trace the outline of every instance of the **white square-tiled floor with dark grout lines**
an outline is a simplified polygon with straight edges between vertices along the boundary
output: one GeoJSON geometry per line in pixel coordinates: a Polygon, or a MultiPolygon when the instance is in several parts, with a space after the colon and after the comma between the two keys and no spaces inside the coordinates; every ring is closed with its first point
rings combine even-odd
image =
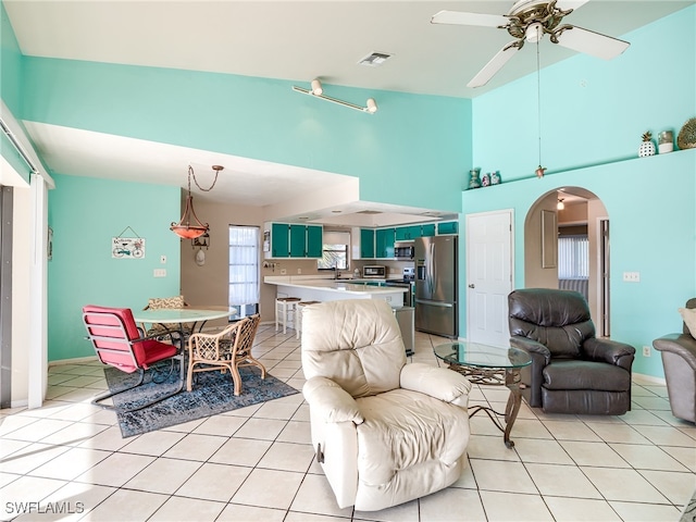
{"type": "MultiPolygon", "coordinates": [[[[412,359],[436,364],[432,347],[443,340],[418,333],[412,359]]],[[[301,389],[294,331],[262,325],[256,350],[301,389]]],[[[622,417],[547,415],[523,403],[513,449],[474,417],[461,478],[380,512],[336,506],[301,394],[122,438],[115,414],[89,402],[104,389],[97,362],[55,365],[42,408],[0,410],[1,520],[676,521],[696,488],[696,426],[671,415],[663,386],[638,376],[622,417]]],[[[475,386],[470,403],[502,411],[507,394],[475,386]]]]}

